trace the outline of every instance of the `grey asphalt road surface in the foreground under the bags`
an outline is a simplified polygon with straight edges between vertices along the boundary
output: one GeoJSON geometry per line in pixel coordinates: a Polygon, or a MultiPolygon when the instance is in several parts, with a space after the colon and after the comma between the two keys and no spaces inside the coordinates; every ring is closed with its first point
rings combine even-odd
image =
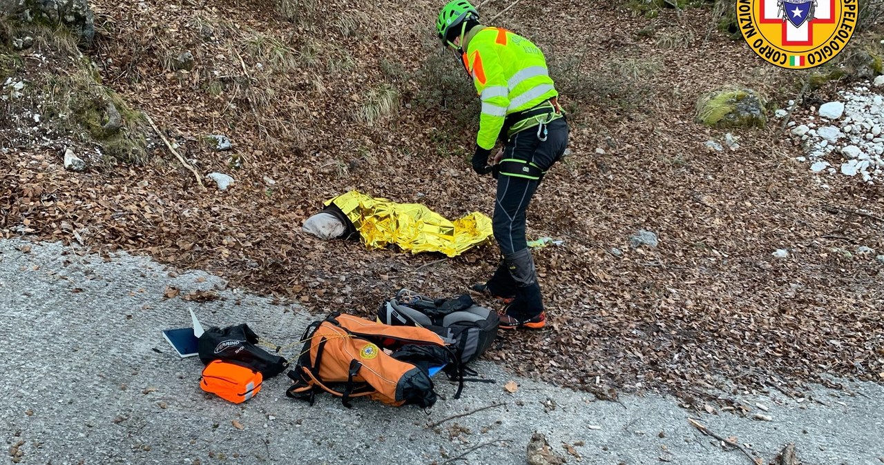
{"type": "Polygon", "coordinates": [[[285,375],[234,405],[203,393],[199,359],[174,355],[161,336],[163,329],[189,326],[188,309],[206,326],[248,323],[280,344],[296,341],[322,318],[145,257],[103,258],[60,244],[0,240],[4,460],[511,465],[526,462],[525,447],[537,431],[568,463],[750,463],[697,431],[692,417],[723,438],[735,437],[762,463],[791,442],[805,464],[884,464],[884,387],[873,383],[842,381],[848,390],[820,387],[806,400],[743,393],[752,410],[738,416],[682,409],[659,394],[598,401],[479,362],[476,371],[496,383],[470,383],[454,400],[455,386],[437,378],[446,399],[427,412],[366,400],[346,409],[327,395],[311,407],[286,398],[285,375]],[[179,295],[166,298],[167,286],[179,295]],[[221,298],[181,298],[195,290],[221,298]],[[511,380],[514,393],[504,388],[511,380]],[[494,403],[501,405],[428,427],[494,403]],[[770,420],[753,419],[756,413],[770,420]],[[566,444],[580,457],[568,454],[566,444]]]}

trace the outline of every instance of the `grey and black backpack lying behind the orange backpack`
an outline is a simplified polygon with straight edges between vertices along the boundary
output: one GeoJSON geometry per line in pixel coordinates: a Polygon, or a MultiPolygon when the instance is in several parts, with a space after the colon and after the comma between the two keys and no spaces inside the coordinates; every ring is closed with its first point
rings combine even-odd
{"type": "Polygon", "coordinates": [[[432,299],[408,289],[381,304],[377,321],[392,326],[423,326],[453,344],[462,364],[476,360],[497,337],[498,314],[461,295],[432,299]]]}

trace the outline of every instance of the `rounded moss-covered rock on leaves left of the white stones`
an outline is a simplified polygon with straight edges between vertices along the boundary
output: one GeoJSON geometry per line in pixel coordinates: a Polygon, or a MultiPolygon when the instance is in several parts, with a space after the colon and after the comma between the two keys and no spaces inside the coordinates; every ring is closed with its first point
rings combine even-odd
{"type": "Polygon", "coordinates": [[[747,88],[705,94],[697,101],[697,122],[717,128],[762,127],[767,124],[766,100],[747,88]]]}

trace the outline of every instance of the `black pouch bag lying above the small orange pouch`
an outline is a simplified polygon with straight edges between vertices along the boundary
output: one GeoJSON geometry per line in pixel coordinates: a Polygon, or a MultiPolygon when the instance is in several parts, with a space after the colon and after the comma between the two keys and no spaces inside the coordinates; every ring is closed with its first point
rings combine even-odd
{"type": "Polygon", "coordinates": [[[286,370],[288,362],[256,346],[258,335],[246,324],[210,327],[200,336],[197,346],[202,364],[212,360],[224,360],[261,371],[264,379],[269,379],[286,370]]]}

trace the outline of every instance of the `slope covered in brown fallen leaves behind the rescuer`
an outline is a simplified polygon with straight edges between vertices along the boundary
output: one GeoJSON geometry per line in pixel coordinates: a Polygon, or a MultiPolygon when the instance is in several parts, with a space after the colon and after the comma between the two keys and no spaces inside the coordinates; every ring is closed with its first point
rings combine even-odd
{"type": "MultiPolygon", "coordinates": [[[[350,189],[449,218],[491,214],[494,195],[466,161],[478,109],[454,58],[434,48],[438,5],[309,5],[286,20],[270,3],[96,2],[103,82],[204,173],[236,183],[200,191],[163,150],[148,166],[73,176],[57,154],[24,147],[0,159],[4,235],[149,253],[317,312],[370,316],[403,287],[453,296],[484,280],[493,244],[422,267],[440,257],[301,232],[322,201],[350,189]],[[186,49],[194,70],[172,70],[186,49]],[[234,155],[202,143],[219,132],[234,155]]],[[[683,396],[788,390],[824,373],[880,379],[881,265],[855,251],[884,251],[884,224],[827,209],[880,217],[878,188],[850,178],[820,188],[778,122],[735,130],[739,149],[712,152],[705,141],[725,131],[692,121],[700,94],[744,83],[785,100],[794,75],[710,31],[708,10],[644,19],[565,2],[510,12],[499,24],[548,50],[570,92],[574,154],[545,178],[528,219],[530,238],[565,241],[535,255],[551,324],[504,334],[487,357],[562,386],[683,396]],[[659,246],[632,249],[637,229],[659,246]],[[776,249],[789,257],[774,259],[776,249]]]]}

